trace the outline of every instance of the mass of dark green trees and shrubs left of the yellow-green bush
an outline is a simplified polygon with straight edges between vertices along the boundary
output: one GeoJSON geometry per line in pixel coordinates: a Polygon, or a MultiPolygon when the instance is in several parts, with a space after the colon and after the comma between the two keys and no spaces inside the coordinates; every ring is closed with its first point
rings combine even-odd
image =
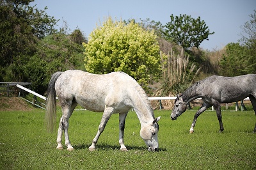
{"type": "Polygon", "coordinates": [[[45,10],[29,6],[33,0],[0,1],[0,81],[33,82],[31,89],[44,95],[51,74],[83,68],[86,42],[79,29],[57,33],[58,20],[45,10]]]}

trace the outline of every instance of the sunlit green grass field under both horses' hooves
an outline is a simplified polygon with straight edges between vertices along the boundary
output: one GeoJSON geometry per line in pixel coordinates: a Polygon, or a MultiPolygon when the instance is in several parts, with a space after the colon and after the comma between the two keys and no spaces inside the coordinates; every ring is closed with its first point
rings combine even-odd
{"type": "MultiPolygon", "coordinates": [[[[140,137],[140,121],[129,112],[125,145],[119,151],[118,114],[111,116],[99,138],[97,150],[88,147],[97,132],[102,113],[74,111],[70,141],[74,151],[56,150],[56,132],[44,128],[44,111],[0,112],[0,169],[256,169],[256,134],[253,111],[223,112],[225,132],[219,133],[216,112],[205,111],[189,128],[195,111],[176,121],[170,111],[154,111],[159,121],[159,152],[147,151],[140,137]]],[[[58,111],[58,120],[61,112],[58,111]]],[[[57,120],[57,121],[58,121],[57,120]]],[[[64,141],[63,141],[64,144],[64,141]]]]}

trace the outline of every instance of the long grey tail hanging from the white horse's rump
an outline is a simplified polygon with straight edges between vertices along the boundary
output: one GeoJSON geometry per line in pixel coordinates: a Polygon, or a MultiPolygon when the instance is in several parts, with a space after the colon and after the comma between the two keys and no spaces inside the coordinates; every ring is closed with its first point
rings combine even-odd
{"type": "Polygon", "coordinates": [[[48,132],[53,132],[56,124],[56,91],[55,82],[60,77],[62,72],[52,74],[51,80],[47,89],[46,111],[45,111],[45,127],[48,132]]]}

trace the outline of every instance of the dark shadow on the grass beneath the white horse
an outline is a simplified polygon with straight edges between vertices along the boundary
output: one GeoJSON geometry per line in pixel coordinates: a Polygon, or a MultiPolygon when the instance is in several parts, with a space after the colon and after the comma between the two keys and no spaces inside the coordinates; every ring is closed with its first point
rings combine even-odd
{"type": "MultiPolygon", "coordinates": [[[[88,150],[90,144],[77,144],[73,146],[75,150],[88,150]]],[[[127,150],[147,150],[147,147],[141,146],[126,146],[127,150]]],[[[119,150],[119,145],[97,144],[96,150],[119,150]]],[[[159,148],[159,151],[167,151],[166,148],[159,148]]]]}

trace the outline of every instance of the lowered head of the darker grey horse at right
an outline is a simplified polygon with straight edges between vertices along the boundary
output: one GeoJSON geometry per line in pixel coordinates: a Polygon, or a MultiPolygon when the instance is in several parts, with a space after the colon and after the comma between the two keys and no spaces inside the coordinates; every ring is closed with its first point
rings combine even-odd
{"type": "Polygon", "coordinates": [[[174,102],[174,107],[172,110],[171,118],[172,120],[176,120],[183,112],[187,109],[187,104],[183,101],[182,96],[177,95],[177,98],[174,102]]]}

